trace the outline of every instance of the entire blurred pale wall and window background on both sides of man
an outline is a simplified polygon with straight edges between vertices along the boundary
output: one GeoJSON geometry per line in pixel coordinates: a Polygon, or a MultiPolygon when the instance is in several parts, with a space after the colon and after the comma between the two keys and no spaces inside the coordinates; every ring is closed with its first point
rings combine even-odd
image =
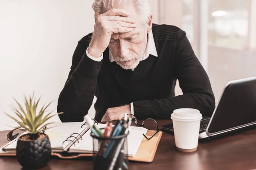
{"type": "MultiPolygon", "coordinates": [[[[13,114],[13,98],[22,102],[23,94],[35,91],[37,98],[42,96],[42,105],[54,100],[50,108],[56,110],[77,42],[93,31],[92,3],[0,0],[0,130],[17,126],[4,113],[13,114]]],[[[256,76],[256,0],[149,3],[154,23],[186,31],[209,75],[217,103],[228,81],[256,76]]],[[[89,115],[94,114],[92,106],[89,115]]],[[[54,119],[59,122],[58,116],[54,119]]]]}

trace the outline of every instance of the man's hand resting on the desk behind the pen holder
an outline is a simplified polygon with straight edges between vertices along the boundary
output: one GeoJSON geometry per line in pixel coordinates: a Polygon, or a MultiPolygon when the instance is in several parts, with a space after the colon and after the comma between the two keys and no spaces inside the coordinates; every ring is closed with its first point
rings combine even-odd
{"type": "Polygon", "coordinates": [[[123,118],[125,113],[131,114],[131,105],[120,106],[116,108],[108,108],[107,112],[102,118],[102,122],[118,120],[123,118]]]}

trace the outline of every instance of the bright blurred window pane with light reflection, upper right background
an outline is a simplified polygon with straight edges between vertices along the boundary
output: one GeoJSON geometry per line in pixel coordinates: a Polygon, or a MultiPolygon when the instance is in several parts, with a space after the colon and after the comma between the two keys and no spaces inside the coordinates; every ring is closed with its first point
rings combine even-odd
{"type": "Polygon", "coordinates": [[[226,48],[247,47],[248,0],[208,0],[208,42],[226,48]]]}

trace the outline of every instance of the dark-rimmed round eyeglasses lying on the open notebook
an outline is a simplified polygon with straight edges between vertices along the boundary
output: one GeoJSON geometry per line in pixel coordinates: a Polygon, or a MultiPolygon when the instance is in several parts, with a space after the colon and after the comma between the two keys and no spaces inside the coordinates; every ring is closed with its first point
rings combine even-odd
{"type": "Polygon", "coordinates": [[[148,118],[148,119],[145,119],[143,120],[142,122],[142,125],[140,125],[138,123],[138,120],[137,120],[137,117],[134,116],[133,114],[127,114],[127,115],[131,115],[131,118],[134,119],[134,123],[135,125],[134,126],[141,126],[141,127],[144,127],[148,130],[156,130],[156,132],[154,133],[153,136],[151,136],[150,138],[148,138],[144,133],[143,133],[143,136],[150,140],[152,139],[160,130],[158,129],[158,125],[157,125],[157,121],[155,119],[151,119],[151,118],[148,118]]]}

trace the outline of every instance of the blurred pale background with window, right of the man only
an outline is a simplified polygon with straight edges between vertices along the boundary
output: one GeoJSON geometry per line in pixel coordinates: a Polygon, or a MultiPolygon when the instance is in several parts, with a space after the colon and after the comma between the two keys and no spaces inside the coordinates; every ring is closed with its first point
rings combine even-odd
{"type": "Polygon", "coordinates": [[[186,31],[216,102],[228,81],[256,76],[256,0],[160,0],[158,5],[163,11],[157,22],[186,31]]]}

